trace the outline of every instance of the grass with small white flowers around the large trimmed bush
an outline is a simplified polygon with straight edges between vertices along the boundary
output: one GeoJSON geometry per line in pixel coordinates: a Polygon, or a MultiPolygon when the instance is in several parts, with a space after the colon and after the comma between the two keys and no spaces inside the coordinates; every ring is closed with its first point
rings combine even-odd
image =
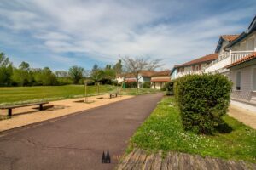
{"type": "Polygon", "coordinates": [[[232,127],[230,133],[212,136],[196,135],[183,131],[179,111],[174,99],[164,98],[131,138],[127,151],[134,148],[155,152],[169,150],[201,156],[256,162],[256,130],[230,116],[224,122],[232,127]]]}

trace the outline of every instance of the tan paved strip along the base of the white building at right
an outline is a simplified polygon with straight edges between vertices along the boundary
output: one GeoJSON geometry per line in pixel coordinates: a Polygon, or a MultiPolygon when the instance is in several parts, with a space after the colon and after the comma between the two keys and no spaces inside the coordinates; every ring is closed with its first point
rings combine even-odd
{"type": "Polygon", "coordinates": [[[253,111],[245,110],[236,105],[230,105],[228,114],[239,122],[243,122],[247,126],[256,129],[256,114],[253,111]]]}

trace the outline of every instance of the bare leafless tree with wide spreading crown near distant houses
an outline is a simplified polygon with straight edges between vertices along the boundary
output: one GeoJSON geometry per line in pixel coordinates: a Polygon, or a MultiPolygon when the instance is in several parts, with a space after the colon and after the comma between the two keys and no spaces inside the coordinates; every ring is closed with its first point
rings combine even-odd
{"type": "Polygon", "coordinates": [[[137,80],[137,92],[139,88],[139,80],[142,78],[140,77],[139,73],[141,71],[154,71],[154,69],[161,66],[161,59],[148,60],[144,58],[132,59],[131,57],[125,57],[122,58],[122,60],[125,63],[125,69],[133,74],[137,80]]]}

